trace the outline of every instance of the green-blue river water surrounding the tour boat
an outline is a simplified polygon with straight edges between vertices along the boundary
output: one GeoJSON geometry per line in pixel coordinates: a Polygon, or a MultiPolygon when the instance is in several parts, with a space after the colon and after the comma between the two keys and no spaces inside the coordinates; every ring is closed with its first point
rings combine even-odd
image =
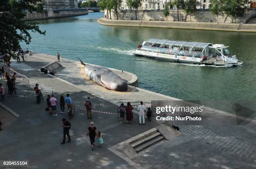
{"type": "Polygon", "coordinates": [[[104,26],[102,12],[38,20],[46,36],[31,33],[32,52],[132,72],[139,87],[186,100],[255,100],[256,33],[104,26]],[[133,56],[136,46],[149,38],[210,42],[229,46],[243,61],[238,67],[177,64],[133,56]]]}

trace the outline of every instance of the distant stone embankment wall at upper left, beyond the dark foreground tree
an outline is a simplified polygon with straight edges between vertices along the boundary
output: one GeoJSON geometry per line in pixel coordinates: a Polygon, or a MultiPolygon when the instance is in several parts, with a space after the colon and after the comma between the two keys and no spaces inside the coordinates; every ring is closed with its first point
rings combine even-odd
{"type": "Polygon", "coordinates": [[[77,15],[87,15],[87,9],[76,9],[76,10],[47,10],[42,13],[38,12],[27,12],[26,17],[23,20],[40,20],[48,19],[55,17],[68,17],[68,16],[77,16],[77,15]]]}

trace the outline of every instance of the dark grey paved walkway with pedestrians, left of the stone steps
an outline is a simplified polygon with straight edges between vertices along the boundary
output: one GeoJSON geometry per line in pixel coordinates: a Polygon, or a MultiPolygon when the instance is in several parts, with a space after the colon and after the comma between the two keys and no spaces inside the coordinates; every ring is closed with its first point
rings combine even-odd
{"type": "MultiPolygon", "coordinates": [[[[135,114],[134,124],[120,124],[117,118],[116,105],[104,99],[100,99],[72,84],[65,83],[57,78],[45,75],[38,69],[46,65],[48,60],[38,62],[37,58],[30,58],[24,69],[15,69],[26,75],[34,83],[43,87],[44,98],[46,90],[54,90],[58,94],[70,93],[76,107],[75,117],[71,120],[70,130],[72,142],[61,145],[62,118],[67,118],[67,113],[52,117],[45,112],[46,101],[36,104],[33,89],[28,89],[22,82],[17,82],[18,96],[5,96],[3,102],[7,107],[15,111],[20,117],[8,129],[8,132],[0,137],[0,159],[1,160],[29,160],[33,168],[131,168],[131,166],[108,150],[119,142],[145,132],[156,126],[146,123],[145,126],[138,125],[138,117],[135,114]],[[90,140],[86,135],[91,120],[87,119],[84,110],[84,101],[91,96],[94,105],[92,109],[93,122],[104,135],[102,148],[90,150],[90,140]]],[[[23,63],[21,63],[23,64],[23,63]]],[[[2,80],[6,87],[6,81],[2,80]]],[[[56,94],[59,100],[59,95],[56,94]]],[[[57,112],[60,112],[59,107],[57,112]]]]}

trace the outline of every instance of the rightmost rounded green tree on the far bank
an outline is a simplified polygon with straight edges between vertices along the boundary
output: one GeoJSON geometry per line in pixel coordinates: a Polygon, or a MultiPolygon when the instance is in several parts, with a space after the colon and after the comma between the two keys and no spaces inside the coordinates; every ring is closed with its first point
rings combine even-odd
{"type": "Polygon", "coordinates": [[[242,17],[248,4],[248,0],[223,0],[223,11],[227,16],[232,16],[232,23],[234,18],[242,17]]]}

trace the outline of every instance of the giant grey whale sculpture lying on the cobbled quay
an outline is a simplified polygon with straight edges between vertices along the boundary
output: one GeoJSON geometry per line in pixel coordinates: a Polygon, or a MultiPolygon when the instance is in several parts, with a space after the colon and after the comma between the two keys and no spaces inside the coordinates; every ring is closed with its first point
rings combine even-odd
{"type": "MultiPolygon", "coordinates": [[[[77,59],[79,58],[77,57],[77,59]]],[[[125,80],[120,78],[110,69],[101,66],[85,65],[81,59],[79,60],[81,64],[85,66],[85,73],[88,77],[90,77],[90,80],[93,80],[98,85],[109,90],[115,90],[119,92],[127,91],[127,82],[125,82],[125,80]]]]}

